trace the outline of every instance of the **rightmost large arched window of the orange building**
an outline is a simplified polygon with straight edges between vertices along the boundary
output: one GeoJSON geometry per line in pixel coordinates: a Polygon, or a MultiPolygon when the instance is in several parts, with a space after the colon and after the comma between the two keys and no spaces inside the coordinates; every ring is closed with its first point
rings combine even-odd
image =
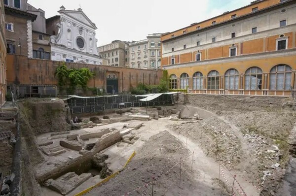
{"type": "Polygon", "coordinates": [[[270,70],[270,90],[290,90],[292,68],[289,65],[276,65],[270,70]]]}

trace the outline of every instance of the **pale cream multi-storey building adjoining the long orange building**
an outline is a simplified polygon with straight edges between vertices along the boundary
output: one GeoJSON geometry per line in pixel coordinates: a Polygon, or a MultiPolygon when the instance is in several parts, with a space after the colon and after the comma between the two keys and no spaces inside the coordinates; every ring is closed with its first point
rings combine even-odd
{"type": "Polygon", "coordinates": [[[132,41],[129,44],[130,67],[142,69],[160,68],[161,34],[148,34],[147,39],[132,41]]]}

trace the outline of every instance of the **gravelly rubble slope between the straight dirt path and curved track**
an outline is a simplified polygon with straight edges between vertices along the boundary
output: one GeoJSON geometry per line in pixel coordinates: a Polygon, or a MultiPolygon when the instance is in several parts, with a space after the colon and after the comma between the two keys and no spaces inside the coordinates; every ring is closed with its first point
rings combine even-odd
{"type": "Polygon", "coordinates": [[[208,156],[233,167],[240,163],[242,149],[231,128],[217,117],[174,126],[173,130],[197,141],[208,156]]]}

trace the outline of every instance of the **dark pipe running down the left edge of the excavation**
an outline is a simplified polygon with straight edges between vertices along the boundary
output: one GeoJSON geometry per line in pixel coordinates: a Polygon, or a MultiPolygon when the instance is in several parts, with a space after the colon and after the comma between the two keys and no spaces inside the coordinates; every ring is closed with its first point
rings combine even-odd
{"type": "Polygon", "coordinates": [[[10,196],[20,196],[21,195],[21,131],[19,122],[19,113],[17,113],[17,130],[15,135],[15,146],[13,152],[13,161],[11,173],[15,174],[15,178],[10,185],[10,196]]]}

